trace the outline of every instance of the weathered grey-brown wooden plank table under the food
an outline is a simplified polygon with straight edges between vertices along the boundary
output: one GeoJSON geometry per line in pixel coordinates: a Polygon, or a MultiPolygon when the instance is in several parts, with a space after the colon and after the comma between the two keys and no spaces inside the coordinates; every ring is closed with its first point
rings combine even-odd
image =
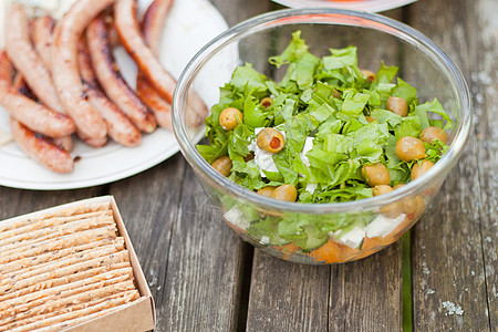
{"type": "MultiPolygon", "coordinates": [[[[212,3],[230,25],[280,8],[269,0],[212,3]]],[[[155,298],[157,331],[400,331],[411,322],[417,331],[496,330],[498,3],[419,0],[384,14],[453,58],[475,111],[463,157],[406,246],[338,266],[269,257],[211,211],[180,154],[93,188],[0,187],[0,219],[114,195],[155,298]]]]}

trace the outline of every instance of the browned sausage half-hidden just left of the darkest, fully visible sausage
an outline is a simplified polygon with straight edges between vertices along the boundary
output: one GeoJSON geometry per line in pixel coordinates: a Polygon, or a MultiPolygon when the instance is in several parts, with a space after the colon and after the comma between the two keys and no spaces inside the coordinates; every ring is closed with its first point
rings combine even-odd
{"type": "Polygon", "coordinates": [[[83,41],[79,44],[77,60],[89,100],[105,118],[108,136],[124,146],[139,145],[142,142],[141,131],[102,92],[92,68],[89,50],[83,41]]]}

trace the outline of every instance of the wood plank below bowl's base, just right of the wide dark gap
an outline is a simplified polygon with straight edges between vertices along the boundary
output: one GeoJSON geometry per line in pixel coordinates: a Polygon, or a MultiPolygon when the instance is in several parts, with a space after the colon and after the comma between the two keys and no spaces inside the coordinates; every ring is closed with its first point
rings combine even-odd
{"type": "Polygon", "coordinates": [[[247,331],[328,331],[330,273],[256,250],[247,331]]]}

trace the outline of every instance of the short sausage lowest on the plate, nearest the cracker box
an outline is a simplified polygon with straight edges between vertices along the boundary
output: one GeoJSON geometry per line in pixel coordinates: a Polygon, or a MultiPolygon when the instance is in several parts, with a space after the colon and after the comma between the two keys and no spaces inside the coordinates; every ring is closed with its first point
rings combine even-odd
{"type": "Polygon", "coordinates": [[[74,160],[68,152],[51,144],[46,138],[38,137],[12,116],[10,131],[15,143],[34,160],[56,173],[73,170],[74,160]]]}

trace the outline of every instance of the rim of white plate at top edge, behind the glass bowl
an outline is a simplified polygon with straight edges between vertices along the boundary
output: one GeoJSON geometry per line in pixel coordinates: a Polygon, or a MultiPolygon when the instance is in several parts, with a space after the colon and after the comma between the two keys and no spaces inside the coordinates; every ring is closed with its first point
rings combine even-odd
{"type": "Polygon", "coordinates": [[[416,0],[355,0],[355,1],[273,0],[273,1],[291,8],[322,7],[322,8],[340,8],[367,12],[378,12],[402,7],[415,2],[416,0]]]}

